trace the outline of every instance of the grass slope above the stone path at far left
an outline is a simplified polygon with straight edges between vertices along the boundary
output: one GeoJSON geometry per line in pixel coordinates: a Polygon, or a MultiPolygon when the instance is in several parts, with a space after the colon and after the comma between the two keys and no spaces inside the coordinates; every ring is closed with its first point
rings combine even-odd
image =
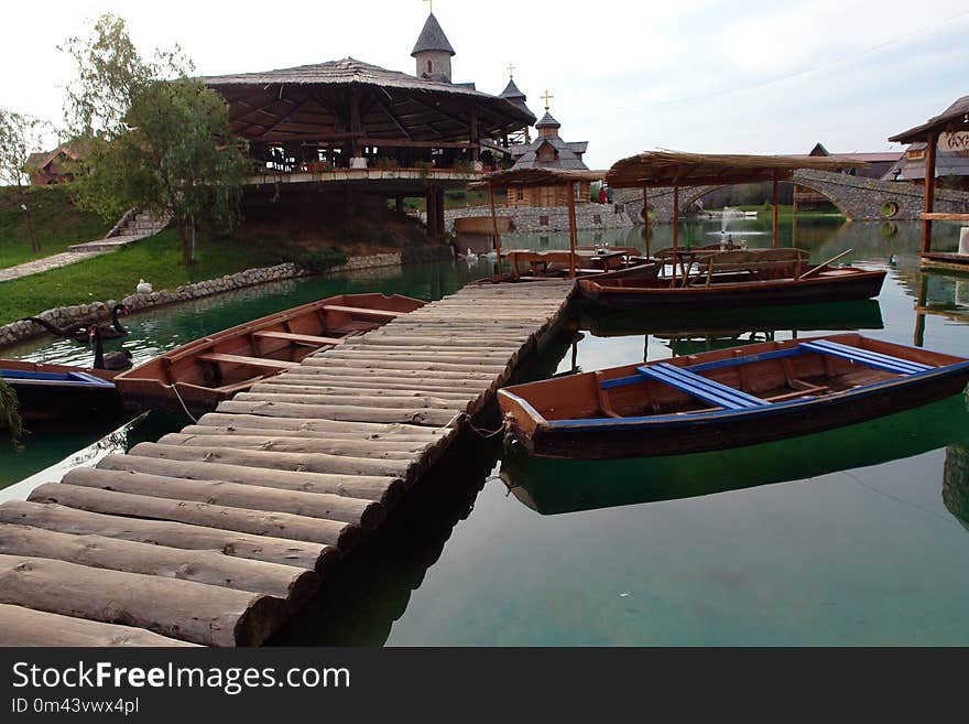
{"type": "Polygon", "coordinates": [[[0,187],[0,269],[67,251],[73,244],[100,239],[111,226],[113,223],[107,224],[96,214],[78,210],[65,186],[0,187]],[[31,252],[21,204],[33,215],[39,255],[31,252]]]}

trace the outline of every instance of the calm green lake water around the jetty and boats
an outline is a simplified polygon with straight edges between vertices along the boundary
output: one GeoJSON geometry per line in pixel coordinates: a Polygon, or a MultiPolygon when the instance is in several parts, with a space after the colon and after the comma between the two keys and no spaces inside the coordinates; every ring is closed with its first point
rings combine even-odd
{"type": "MultiPolygon", "coordinates": [[[[937,248],[954,247],[956,228],[939,226],[937,248]]],[[[719,228],[685,225],[682,239],[709,244],[719,228]]],[[[751,246],[770,244],[763,223],[730,229],[760,233],[747,237],[751,246]]],[[[815,261],[853,249],[846,261],[889,269],[880,298],[688,316],[577,303],[521,377],[845,329],[969,355],[969,275],[921,270],[917,225],[799,220],[782,228],[782,245],[792,239],[815,261]]],[[[641,229],[580,241],[643,245],[641,229]]],[[[669,228],[654,227],[652,242],[668,246],[669,228]]],[[[566,248],[567,237],[509,236],[503,246],[566,248]]],[[[459,260],[243,290],[127,317],[131,335],[109,348],[141,361],[344,291],[438,299],[487,266],[459,260]]],[[[74,364],[90,355],[51,338],[4,354],[74,364]]],[[[2,443],[0,487],[52,465],[33,482],[54,479],[185,421],[124,422],[37,430],[19,453],[2,443]]],[[[273,642],[965,646],[967,556],[963,396],[815,435],[676,457],[543,461],[468,435],[273,642]]]]}

